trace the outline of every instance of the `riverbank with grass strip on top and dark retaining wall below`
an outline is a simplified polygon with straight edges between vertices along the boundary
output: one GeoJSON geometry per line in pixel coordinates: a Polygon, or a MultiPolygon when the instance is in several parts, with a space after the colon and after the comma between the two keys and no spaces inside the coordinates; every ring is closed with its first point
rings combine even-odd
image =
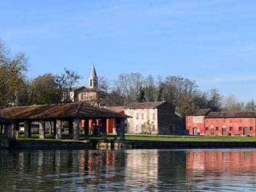
{"type": "Polygon", "coordinates": [[[107,140],[91,137],[90,140],[39,140],[19,138],[9,143],[9,149],[207,149],[207,148],[256,148],[256,137],[223,136],[157,136],[126,135],[119,140],[108,135],[107,140]]]}

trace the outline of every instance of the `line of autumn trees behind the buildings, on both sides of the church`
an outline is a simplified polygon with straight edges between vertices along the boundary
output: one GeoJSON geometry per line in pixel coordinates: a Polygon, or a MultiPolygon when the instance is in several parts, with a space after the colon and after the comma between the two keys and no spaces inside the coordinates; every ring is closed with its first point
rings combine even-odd
{"type": "MultiPolygon", "coordinates": [[[[62,74],[42,74],[35,79],[28,79],[26,72],[26,55],[10,55],[10,49],[0,40],[0,108],[60,103],[63,89],[71,91],[82,79],[66,68],[62,74]]],[[[107,105],[169,101],[176,105],[176,111],[182,116],[191,108],[212,108],[215,112],[256,110],[253,99],[245,104],[237,102],[233,95],[224,98],[217,88],[200,91],[194,80],[181,76],[154,79],[151,75],[143,77],[140,73],[123,73],[112,81],[99,77],[98,83],[99,93],[107,100],[107,105]],[[112,99],[107,99],[108,95],[112,95],[112,99]],[[122,99],[115,99],[117,97],[122,99]]]]}

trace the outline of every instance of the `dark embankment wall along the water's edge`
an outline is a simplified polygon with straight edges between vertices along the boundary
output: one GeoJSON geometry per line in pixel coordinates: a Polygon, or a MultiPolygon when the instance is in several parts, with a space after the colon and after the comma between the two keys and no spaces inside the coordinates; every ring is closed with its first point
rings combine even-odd
{"type": "MultiPolygon", "coordinates": [[[[3,143],[2,143],[3,144],[3,143]]],[[[256,142],[241,141],[45,141],[15,140],[8,149],[218,149],[256,148],[256,142]]],[[[3,148],[2,148],[3,149],[3,148]]],[[[5,148],[6,149],[6,148],[5,148]]]]}

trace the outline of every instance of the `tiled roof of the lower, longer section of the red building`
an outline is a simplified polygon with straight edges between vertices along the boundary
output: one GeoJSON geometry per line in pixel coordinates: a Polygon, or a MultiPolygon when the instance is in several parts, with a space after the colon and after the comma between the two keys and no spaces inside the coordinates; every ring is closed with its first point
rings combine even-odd
{"type": "Polygon", "coordinates": [[[256,118],[256,112],[210,112],[205,118],[256,118]]]}

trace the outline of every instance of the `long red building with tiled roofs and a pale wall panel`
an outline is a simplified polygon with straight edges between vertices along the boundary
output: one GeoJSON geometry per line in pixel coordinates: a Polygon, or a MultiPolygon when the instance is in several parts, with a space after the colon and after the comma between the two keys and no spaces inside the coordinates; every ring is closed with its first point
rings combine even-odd
{"type": "Polygon", "coordinates": [[[186,120],[190,135],[256,136],[256,112],[211,112],[202,108],[190,110],[186,120]]]}

